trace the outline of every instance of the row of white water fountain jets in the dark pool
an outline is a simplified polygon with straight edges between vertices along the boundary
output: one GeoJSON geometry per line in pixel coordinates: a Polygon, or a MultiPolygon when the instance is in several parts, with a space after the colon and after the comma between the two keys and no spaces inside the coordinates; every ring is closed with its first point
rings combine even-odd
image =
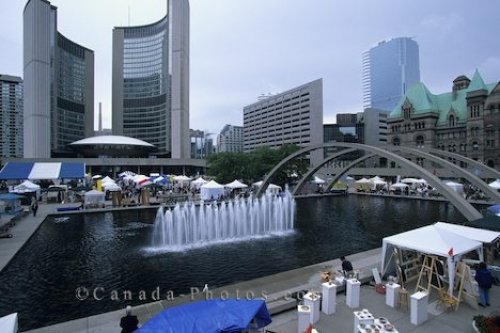
{"type": "Polygon", "coordinates": [[[156,214],[153,248],[186,249],[267,235],[294,227],[295,200],[286,190],[261,198],[236,198],[221,203],[176,204],[156,214]]]}

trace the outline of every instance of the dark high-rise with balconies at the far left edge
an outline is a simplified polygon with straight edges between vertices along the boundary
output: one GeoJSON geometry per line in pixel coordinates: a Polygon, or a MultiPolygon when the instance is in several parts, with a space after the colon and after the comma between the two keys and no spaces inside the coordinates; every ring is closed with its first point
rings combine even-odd
{"type": "Polygon", "coordinates": [[[0,156],[23,157],[23,80],[0,74],[0,156]]]}

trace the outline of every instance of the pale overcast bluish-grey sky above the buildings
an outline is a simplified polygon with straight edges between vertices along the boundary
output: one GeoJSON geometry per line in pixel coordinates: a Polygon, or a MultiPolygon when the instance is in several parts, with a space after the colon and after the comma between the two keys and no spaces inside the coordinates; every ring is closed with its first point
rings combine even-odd
{"type": "MultiPolygon", "coordinates": [[[[26,1],[0,0],[0,73],[23,76],[26,1]]],[[[114,26],[155,22],[166,0],[53,0],[58,30],[95,52],[95,110],[111,126],[114,26]],[[130,13],[130,15],[129,15],[130,13]],[[129,21],[130,20],[130,21],[129,21]]],[[[361,54],[384,39],[414,37],[432,93],[477,68],[500,80],[498,0],[191,0],[190,127],[242,125],[243,107],[323,78],[323,118],[362,111],[361,54]]],[[[97,121],[96,121],[97,126],[97,121]]]]}

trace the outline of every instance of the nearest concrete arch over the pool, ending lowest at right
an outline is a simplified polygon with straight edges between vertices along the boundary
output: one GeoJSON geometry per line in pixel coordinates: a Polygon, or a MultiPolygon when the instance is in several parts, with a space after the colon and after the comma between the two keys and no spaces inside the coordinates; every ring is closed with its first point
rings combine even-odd
{"type": "MultiPolygon", "coordinates": [[[[392,153],[390,151],[387,151],[385,149],[375,147],[375,146],[369,146],[369,145],[363,145],[359,143],[347,143],[347,142],[337,142],[337,143],[325,143],[325,144],[316,144],[312,145],[306,148],[303,148],[288,157],[284,158],[280,163],[278,163],[272,170],[271,172],[264,178],[262,186],[259,188],[257,191],[257,196],[262,195],[264,191],[267,189],[267,186],[269,185],[269,180],[272,178],[274,173],[278,171],[284,164],[289,162],[290,160],[294,159],[297,156],[300,156],[302,154],[308,153],[310,151],[316,150],[316,149],[323,149],[323,148],[357,148],[363,151],[371,152],[374,153],[378,156],[385,157],[389,160],[393,160],[398,162],[399,164],[407,167],[408,169],[412,170],[415,175],[420,176],[424,179],[426,179],[430,185],[438,189],[438,191],[445,196],[464,216],[467,220],[472,221],[475,219],[479,219],[482,217],[481,213],[479,213],[470,203],[468,203],[462,196],[460,196],[458,193],[453,191],[450,187],[446,186],[443,184],[440,179],[436,176],[434,176],[431,172],[427,171],[426,169],[420,167],[419,165],[416,165],[415,163],[408,161],[407,159],[398,156],[395,153],[392,153]]],[[[453,164],[453,168],[457,168],[456,165],[453,164]]]]}

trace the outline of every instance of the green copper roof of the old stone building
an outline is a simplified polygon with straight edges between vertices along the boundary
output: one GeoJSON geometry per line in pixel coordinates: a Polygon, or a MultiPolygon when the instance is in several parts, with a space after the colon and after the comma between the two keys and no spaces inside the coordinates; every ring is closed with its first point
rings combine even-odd
{"type": "Polygon", "coordinates": [[[401,107],[408,100],[413,106],[413,114],[434,113],[438,115],[436,125],[445,125],[448,123],[448,113],[450,110],[455,112],[457,122],[464,122],[467,119],[467,100],[468,92],[476,90],[486,90],[488,94],[493,90],[497,83],[486,85],[483,78],[476,70],[474,77],[466,89],[456,92],[453,98],[452,92],[434,95],[423,83],[414,84],[406,95],[399,101],[398,105],[390,113],[389,118],[399,118],[402,116],[401,107]]]}

